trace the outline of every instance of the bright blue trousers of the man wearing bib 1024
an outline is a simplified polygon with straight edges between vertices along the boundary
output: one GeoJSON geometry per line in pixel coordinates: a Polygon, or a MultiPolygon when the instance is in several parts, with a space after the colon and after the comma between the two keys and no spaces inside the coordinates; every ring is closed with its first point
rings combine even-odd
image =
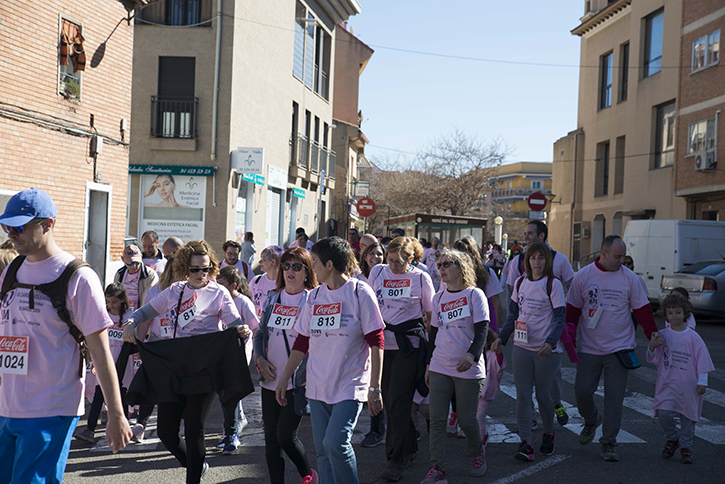
{"type": "Polygon", "coordinates": [[[78,419],[0,417],[0,482],[62,482],[78,419]]]}

